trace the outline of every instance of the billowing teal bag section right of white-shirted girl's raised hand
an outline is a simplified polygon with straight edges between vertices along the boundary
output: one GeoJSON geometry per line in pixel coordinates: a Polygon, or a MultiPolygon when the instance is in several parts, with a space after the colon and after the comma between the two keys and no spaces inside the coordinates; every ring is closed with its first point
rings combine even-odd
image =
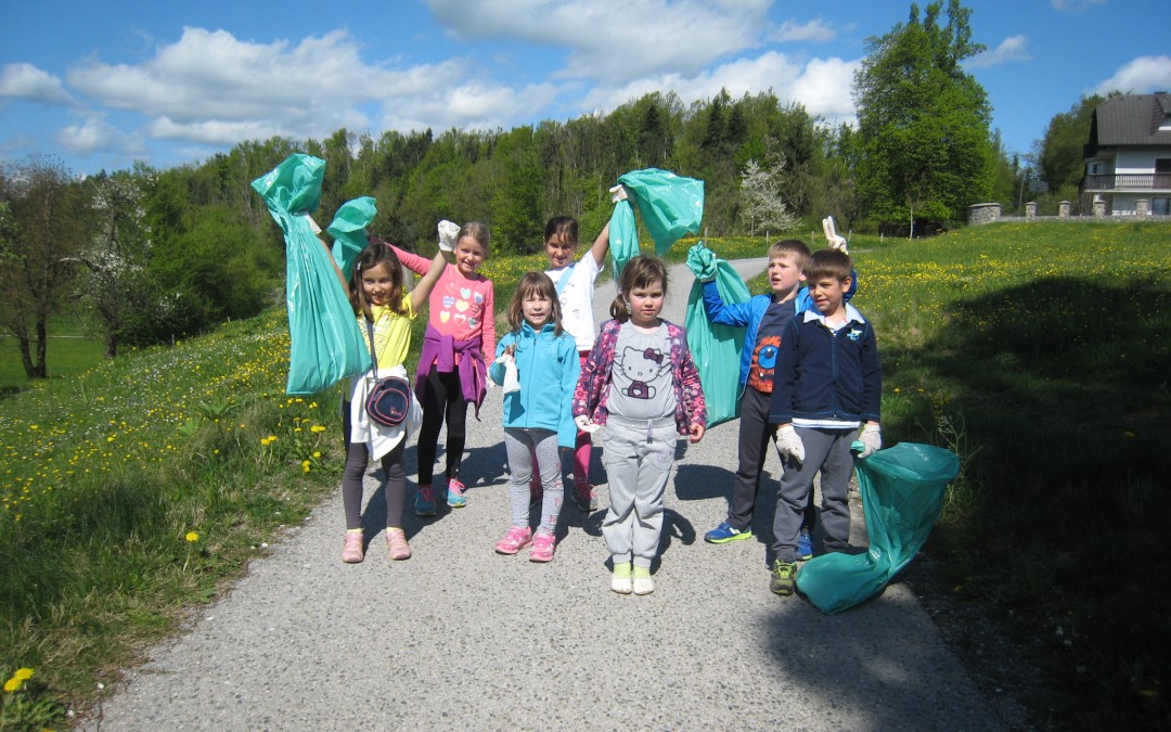
{"type": "Polygon", "coordinates": [[[655,240],[655,251],[659,255],[683,237],[699,233],[704,220],[703,180],[646,167],[619,176],[618,183],[635,194],[643,225],[655,240]]]}

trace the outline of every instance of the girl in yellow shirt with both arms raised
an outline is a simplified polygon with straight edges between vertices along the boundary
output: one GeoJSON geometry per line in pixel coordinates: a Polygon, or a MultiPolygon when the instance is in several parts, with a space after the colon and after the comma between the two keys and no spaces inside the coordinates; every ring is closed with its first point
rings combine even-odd
{"type": "MultiPolygon", "coordinates": [[[[322,241],[324,245],[324,241],[322,241]]],[[[329,247],[326,247],[329,251],[329,247]]],[[[333,256],[330,255],[333,260],[333,256]]],[[[431,288],[443,274],[447,261],[437,252],[426,274],[410,294],[403,288],[403,271],[398,258],[386,245],[378,242],[362,249],[354,262],[354,273],[347,281],[342,271],[337,278],[345,288],[350,305],[358,319],[358,327],[369,344],[374,327],[374,353],[382,376],[406,378],[403,361],[411,348],[411,323],[415,314],[426,302],[431,288]]],[[[403,532],[403,505],[406,501],[406,477],[403,472],[403,450],[406,433],[413,425],[404,422],[386,427],[369,419],[365,397],[374,385],[374,369],[350,379],[342,403],[342,429],[345,435],[345,467],[342,472],[342,502],[345,507],[345,538],[342,561],[357,563],[365,557],[362,536],[362,477],[370,457],[382,463],[386,478],[386,548],[392,560],[410,559],[411,547],[403,532]]]]}

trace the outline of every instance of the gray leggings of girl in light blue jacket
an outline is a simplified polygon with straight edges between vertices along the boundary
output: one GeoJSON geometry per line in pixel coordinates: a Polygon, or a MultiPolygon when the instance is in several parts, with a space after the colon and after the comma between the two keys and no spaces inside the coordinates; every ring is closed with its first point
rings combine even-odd
{"type": "Polygon", "coordinates": [[[557,528],[564,487],[561,485],[561,456],[557,452],[557,433],[553,430],[529,427],[505,427],[505,450],[508,453],[508,501],[512,505],[513,526],[528,526],[530,494],[528,484],[533,477],[533,454],[541,471],[541,525],[536,531],[552,534],[557,528]]]}

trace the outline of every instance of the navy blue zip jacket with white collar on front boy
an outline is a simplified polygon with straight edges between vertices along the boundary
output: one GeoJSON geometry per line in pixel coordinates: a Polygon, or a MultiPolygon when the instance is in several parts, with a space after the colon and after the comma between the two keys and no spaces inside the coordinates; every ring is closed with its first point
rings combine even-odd
{"type": "Polygon", "coordinates": [[[879,422],[882,363],[875,330],[845,306],[847,323],[834,333],[816,309],[789,321],[773,371],[769,424],[795,419],[879,422]]]}

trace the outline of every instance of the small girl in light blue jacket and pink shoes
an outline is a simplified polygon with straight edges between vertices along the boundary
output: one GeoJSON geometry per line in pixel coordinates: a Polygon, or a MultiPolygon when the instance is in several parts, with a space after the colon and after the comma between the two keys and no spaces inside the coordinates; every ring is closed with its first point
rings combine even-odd
{"type": "Polygon", "coordinates": [[[520,382],[519,391],[505,394],[512,528],[497,542],[497,552],[516,554],[532,545],[529,561],[552,562],[564,495],[557,446],[573,449],[577,436],[569,404],[581,372],[577,346],[561,328],[561,303],[553,280],[540,272],[521,278],[508,303],[508,327],[488,369],[492,381],[504,385],[505,363],[511,358],[520,382]],[[528,526],[529,480],[537,465],[543,492],[541,522],[534,535],[528,526]]]}

